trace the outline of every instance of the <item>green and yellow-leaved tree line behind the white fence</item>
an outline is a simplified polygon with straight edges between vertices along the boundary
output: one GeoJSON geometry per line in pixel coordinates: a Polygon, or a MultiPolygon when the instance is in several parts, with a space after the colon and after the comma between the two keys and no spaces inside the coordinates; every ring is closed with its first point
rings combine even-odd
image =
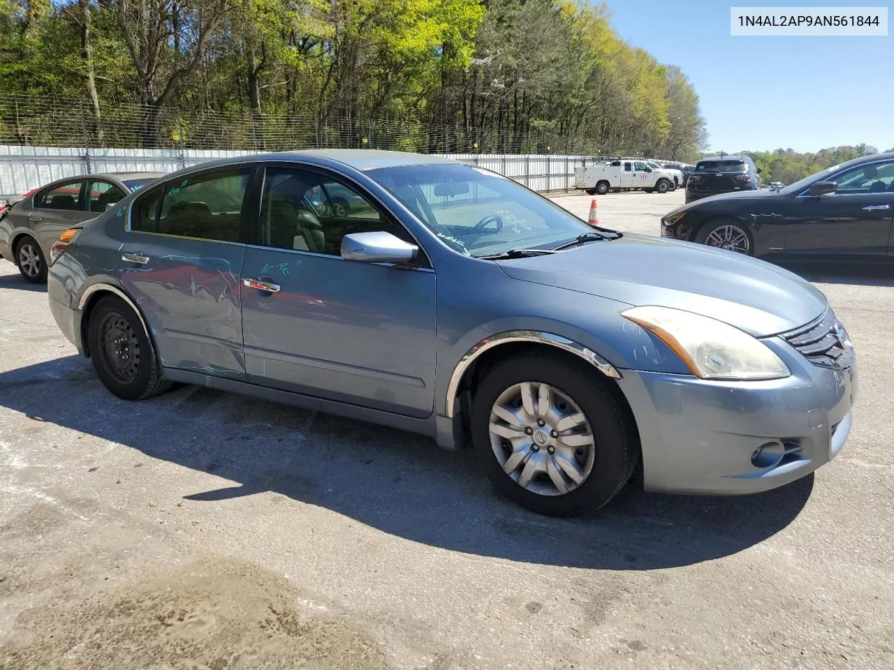
{"type": "Polygon", "coordinates": [[[100,139],[134,105],[144,147],[177,113],[187,134],[217,114],[353,142],[375,120],[394,148],[695,159],[695,90],[610,18],[585,0],[0,0],[0,87],[86,101],[100,139]]]}

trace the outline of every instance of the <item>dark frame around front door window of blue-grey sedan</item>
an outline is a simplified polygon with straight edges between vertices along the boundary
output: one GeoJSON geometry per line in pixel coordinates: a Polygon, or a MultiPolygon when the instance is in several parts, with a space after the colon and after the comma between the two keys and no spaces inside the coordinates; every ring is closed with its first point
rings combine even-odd
{"type": "MultiPolygon", "coordinates": [[[[336,183],[341,184],[343,187],[354,191],[358,194],[358,196],[365,199],[367,203],[371,205],[376,212],[378,212],[379,216],[381,216],[384,221],[391,223],[393,226],[399,227],[409,236],[409,239],[412,240],[411,243],[416,245],[418,249],[416,258],[411,263],[401,264],[401,268],[413,270],[430,270],[434,272],[434,264],[432,263],[431,257],[428,255],[428,252],[426,252],[426,247],[423,247],[421,244],[419,244],[419,239],[416,235],[413,234],[413,231],[409,230],[409,228],[405,226],[403,222],[401,222],[400,217],[395,215],[388,207],[384,205],[384,203],[382,203],[377,197],[370,193],[367,188],[365,188],[362,184],[359,184],[357,181],[351,180],[350,177],[340,174],[339,172],[329,170],[325,167],[313,163],[300,163],[299,161],[264,161],[262,163],[258,163],[256,183],[257,197],[255,205],[251,210],[251,228],[249,230],[248,237],[249,247],[266,249],[268,251],[286,251],[294,254],[315,255],[323,258],[338,259],[340,261],[344,261],[345,263],[357,263],[357,261],[345,261],[345,259],[342,258],[341,255],[323,254],[317,251],[309,251],[305,249],[268,247],[265,244],[261,243],[261,205],[263,205],[264,187],[266,185],[267,169],[269,168],[286,168],[291,170],[304,170],[306,172],[314,172],[325,177],[326,179],[331,179],[336,183]]],[[[372,263],[371,265],[392,266],[394,264],[372,263]]]]}

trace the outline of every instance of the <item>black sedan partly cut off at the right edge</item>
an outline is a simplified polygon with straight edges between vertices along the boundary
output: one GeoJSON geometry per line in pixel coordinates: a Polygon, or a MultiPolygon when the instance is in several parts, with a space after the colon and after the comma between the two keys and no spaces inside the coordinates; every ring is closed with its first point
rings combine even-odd
{"type": "Polygon", "coordinates": [[[662,237],[771,259],[890,261],[894,153],[833,165],[785,188],[707,197],[662,218],[662,237]]]}

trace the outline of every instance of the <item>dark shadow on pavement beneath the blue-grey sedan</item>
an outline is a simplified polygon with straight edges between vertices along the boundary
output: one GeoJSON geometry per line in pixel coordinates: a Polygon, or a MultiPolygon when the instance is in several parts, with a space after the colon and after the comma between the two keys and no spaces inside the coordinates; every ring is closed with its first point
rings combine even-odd
{"type": "MultiPolygon", "coordinates": [[[[553,519],[498,496],[471,454],[417,435],[215,389],[126,402],[78,356],[0,373],[0,405],[234,482],[184,490],[184,505],[271,491],[432,547],[544,565],[648,570],[729,556],[788,526],[814,482],[811,475],[737,498],[651,495],[628,485],[598,513],[553,519]]],[[[122,458],[93,465],[121,468],[122,458]]]]}

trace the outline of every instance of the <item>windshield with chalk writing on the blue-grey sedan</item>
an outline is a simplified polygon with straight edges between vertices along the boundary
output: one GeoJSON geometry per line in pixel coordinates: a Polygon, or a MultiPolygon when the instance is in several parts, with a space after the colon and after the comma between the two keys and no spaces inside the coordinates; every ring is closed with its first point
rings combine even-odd
{"type": "Polygon", "coordinates": [[[593,232],[545,197],[481,168],[403,165],[367,174],[462,254],[553,247],[593,232]]]}

